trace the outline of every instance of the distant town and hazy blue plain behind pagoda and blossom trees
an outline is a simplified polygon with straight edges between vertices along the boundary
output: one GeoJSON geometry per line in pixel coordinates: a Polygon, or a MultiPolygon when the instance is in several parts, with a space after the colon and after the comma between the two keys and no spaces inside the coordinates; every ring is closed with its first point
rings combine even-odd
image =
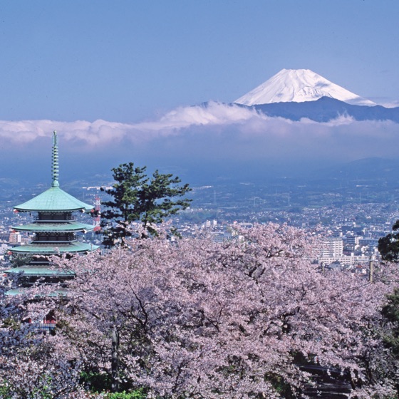
{"type": "MultiPolygon", "coordinates": [[[[363,182],[364,183],[364,182],[363,182]]],[[[105,199],[100,185],[71,185],[68,192],[100,207],[105,199]]],[[[28,244],[31,237],[16,232],[13,226],[28,222],[29,214],[14,213],[15,204],[30,199],[45,185],[36,187],[2,186],[0,197],[0,257],[9,264],[10,247],[28,244]]],[[[335,181],[299,182],[277,179],[268,184],[249,182],[217,183],[193,186],[191,207],[177,214],[172,224],[182,237],[208,232],[216,241],[232,239],[234,224],[250,227],[255,223],[274,222],[306,229],[321,237],[315,261],[326,268],[351,269],[367,274],[371,259],[379,259],[378,239],[391,231],[399,219],[399,189],[373,179],[367,184],[347,182],[337,187],[335,181]],[[382,187],[382,188],[381,188],[382,187]]],[[[88,214],[81,220],[98,224],[88,214]]],[[[83,234],[84,241],[100,244],[100,234],[83,234]]]]}

